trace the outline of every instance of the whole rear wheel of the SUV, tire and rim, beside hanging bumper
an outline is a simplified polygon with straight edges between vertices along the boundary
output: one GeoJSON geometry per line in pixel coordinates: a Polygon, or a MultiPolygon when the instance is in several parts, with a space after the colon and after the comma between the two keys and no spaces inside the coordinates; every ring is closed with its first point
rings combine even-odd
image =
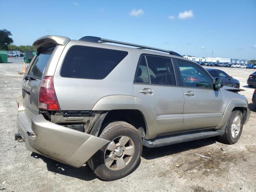
{"type": "Polygon", "coordinates": [[[108,181],[130,174],[142,153],[142,138],[138,130],[126,122],[112,122],[104,128],[99,137],[110,142],[88,160],[92,171],[108,181]]]}

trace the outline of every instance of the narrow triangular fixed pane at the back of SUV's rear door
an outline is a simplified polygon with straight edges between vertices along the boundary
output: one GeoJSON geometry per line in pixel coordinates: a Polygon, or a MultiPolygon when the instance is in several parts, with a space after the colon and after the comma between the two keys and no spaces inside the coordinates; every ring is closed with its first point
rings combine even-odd
{"type": "Polygon", "coordinates": [[[142,56],[135,79],[136,83],[149,83],[148,69],[145,56],[142,56]]]}

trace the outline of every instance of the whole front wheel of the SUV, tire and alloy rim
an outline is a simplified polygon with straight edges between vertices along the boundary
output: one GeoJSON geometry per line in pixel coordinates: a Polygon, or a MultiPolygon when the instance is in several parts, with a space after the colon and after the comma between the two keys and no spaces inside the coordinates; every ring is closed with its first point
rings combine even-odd
{"type": "Polygon", "coordinates": [[[224,134],[219,136],[219,140],[226,144],[235,144],[242,133],[243,115],[241,111],[232,111],[228,118],[224,134]]]}

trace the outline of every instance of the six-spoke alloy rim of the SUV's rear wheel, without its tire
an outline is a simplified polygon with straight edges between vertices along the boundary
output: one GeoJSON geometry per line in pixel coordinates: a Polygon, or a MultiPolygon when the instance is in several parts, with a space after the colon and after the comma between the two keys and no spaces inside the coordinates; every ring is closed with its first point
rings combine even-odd
{"type": "Polygon", "coordinates": [[[110,170],[125,168],[134,155],[134,142],[128,136],[119,136],[112,140],[104,153],[104,163],[110,170]]]}

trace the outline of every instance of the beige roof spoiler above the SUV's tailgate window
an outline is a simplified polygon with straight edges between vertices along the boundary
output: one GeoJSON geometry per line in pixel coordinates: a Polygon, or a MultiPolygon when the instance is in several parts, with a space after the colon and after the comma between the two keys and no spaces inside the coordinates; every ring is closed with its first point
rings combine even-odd
{"type": "Polygon", "coordinates": [[[50,43],[54,43],[56,45],[66,45],[66,43],[70,41],[70,38],[57,36],[57,35],[46,35],[38,38],[34,43],[33,47],[39,51],[39,48],[50,43]]]}

